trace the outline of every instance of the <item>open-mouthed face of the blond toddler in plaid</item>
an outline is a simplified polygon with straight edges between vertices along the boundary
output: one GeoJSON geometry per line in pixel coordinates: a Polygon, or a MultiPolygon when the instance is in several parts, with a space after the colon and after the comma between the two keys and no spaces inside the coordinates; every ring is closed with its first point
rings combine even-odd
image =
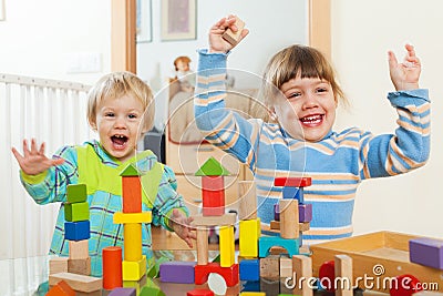
{"type": "Polygon", "coordinates": [[[104,99],[97,105],[95,127],[100,143],[121,162],[135,155],[143,113],[142,102],[128,94],[104,99]]]}

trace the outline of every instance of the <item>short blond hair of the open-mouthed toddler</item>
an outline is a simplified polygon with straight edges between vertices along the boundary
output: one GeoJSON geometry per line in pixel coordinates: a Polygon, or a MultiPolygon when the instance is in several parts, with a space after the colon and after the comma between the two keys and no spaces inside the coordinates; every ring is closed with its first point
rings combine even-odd
{"type": "Polygon", "coordinates": [[[87,93],[87,121],[91,126],[95,123],[96,108],[104,99],[116,99],[132,95],[142,102],[144,114],[142,133],[154,125],[155,104],[151,88],[131,72],[113,72],[104,75],[87,93]]]}

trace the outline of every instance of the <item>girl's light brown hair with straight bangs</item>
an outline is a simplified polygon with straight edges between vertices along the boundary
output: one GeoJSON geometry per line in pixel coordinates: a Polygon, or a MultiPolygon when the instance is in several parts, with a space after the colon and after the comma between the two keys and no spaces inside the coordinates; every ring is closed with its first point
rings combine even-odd
{"type": "Polygon", "coordinates": [[[295,44],[277,52],[269,61],[264,73],[260,93],[266,106],[274,104],[281,85],[297,76],[319,78],[328,81],[333,91],[336,103],[342,99],[347,103],[343,91],[336,80],[332,65],[324,55],[315,48],[295,44]]]}

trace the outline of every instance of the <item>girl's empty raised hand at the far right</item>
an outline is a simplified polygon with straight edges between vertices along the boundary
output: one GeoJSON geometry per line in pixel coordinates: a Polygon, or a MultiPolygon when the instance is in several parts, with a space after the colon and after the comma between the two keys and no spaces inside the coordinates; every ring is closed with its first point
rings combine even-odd
{"type": "Polygon", "coordinates": [[[421,72],[420,59],[415,57],[414,47],[406,44],[408,51],[403,63],[396,61],[395,54],[389,51],[389,72],[391,81],[396,91],[419,89],[419,78],[421,72]]]}

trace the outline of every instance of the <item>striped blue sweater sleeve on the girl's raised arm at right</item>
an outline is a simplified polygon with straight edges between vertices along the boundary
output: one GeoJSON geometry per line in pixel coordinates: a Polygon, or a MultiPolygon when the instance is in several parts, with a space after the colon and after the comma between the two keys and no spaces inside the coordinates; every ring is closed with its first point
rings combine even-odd
{"type": "Polygon", "coordinates": [[[427,90],[399,91],[388,94],[398,112],[395,134],[361,140],[362,180],[392,176],[423,166],[430,155],[431,104],[427,90]]]}

